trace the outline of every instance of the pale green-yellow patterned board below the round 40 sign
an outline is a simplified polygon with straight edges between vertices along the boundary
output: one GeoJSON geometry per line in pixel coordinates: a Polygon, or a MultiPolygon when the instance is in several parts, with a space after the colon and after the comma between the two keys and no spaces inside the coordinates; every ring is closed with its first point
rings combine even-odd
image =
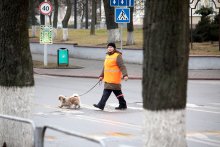
{"type": "Polygon", "coordinates": [[[40,44],[52,44],[53,37],[52,37],[53,27],[51,25],[40,26],[40,44]]]}

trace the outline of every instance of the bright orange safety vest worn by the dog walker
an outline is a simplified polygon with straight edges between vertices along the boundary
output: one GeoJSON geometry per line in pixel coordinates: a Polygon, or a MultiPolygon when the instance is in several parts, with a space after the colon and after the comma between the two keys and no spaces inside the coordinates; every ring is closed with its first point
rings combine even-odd
{"type": "Polygon", "coordinates": [[[106,55],[104,62],[104,81],[107,83],[120,84],[122,73],[117,65],[117,57],[119,53],[106,55]]]}

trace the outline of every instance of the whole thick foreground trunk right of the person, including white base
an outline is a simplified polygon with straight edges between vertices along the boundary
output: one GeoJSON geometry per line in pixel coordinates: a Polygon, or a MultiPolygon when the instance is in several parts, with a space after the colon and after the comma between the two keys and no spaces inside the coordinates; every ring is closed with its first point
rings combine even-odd
{"type": "Polygon", "coordinates": [[[147,0],[143,102],[146,147],[186,147],[189,1],[147,0]]]}

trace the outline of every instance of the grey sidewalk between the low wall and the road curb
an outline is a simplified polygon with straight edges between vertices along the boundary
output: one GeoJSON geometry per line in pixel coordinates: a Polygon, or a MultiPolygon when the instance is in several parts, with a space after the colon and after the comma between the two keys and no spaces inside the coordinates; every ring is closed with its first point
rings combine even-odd
{"type": "MultiPolygon", "coordinates": [[[[42,61],[42,54],[32,54],[33,60],[42,61]]],[[[48,63],[57,63],[57,56],[48,55],[48,63]]],[[[103,61],[90,59],[69,58],[69,65],[82,68],[67,69],[46,69],[34,68],[35,74],[52,75],[52,76],[68,76],[82,78],[98,78],[102,68],[103,61]]],[[[128,70],[129,79],[142,79],[142,65],[125,64],[128,70]]],[[[189,70],[189,80],[220,80],[220,70],[189,70]]]]}

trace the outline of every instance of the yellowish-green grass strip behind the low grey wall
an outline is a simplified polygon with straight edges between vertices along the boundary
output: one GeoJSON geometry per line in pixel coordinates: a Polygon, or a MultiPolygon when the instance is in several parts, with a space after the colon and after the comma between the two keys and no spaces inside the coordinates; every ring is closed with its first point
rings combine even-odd
{"type": "MultiPolygon", "coordinates": [[[[29,30],[31,36],[31,30],[29,30]]],[[[97,29],[95,35],[90,35],[90,29],[69,29],[69,40],[62,40],[62,29],[57,29],[57,37],[54,43],[78,44],[80,46],[97,46],[106,47],[108,32],[106,29],[97,29]]],[[[143,30],[134,29],[134,45],[126,45],[127,29],[123,28],[123,48],[142,49],[143,48],[143,30]]],[[[39,29],[36,37],[30,37],[31,42],[39,42],[39,29]]],[[[117,42],[116,46],[120,48],[121,43],[117,42]]],[[[190,47],[190,45],[189,45],[190,47]]],[[[193,43],[193,49],[190,49],[190,55],[220,55],[218,42],[193,43]]]]}

